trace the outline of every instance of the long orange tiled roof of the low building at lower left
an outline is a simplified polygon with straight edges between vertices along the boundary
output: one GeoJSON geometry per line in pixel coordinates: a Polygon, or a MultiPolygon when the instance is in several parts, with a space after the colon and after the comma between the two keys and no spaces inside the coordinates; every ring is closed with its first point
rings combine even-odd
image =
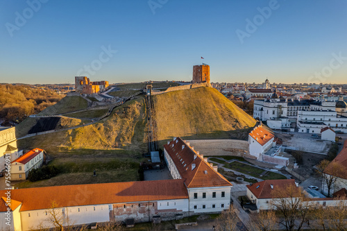
{"type": "MultiPolygon", "coordinates": [[[[188,198],[183,180],[149,180],[92,185],[64,185],[12,189],[11,199],[22,203],[20,211],[49,209],[53,200],[60,207],[105,205],[188,198]]],[[[5,196],[6,190],[1,190],[5,196]]],[[[0,204],[0,212],[3,206],[0,204]]]]}

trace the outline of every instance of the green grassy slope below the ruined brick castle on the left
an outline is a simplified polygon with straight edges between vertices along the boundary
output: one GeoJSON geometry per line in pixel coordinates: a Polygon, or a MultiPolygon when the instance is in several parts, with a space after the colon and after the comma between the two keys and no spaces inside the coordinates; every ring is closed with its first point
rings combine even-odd
{"type": "Polygon", "coordinates": [[[39,115],[53,115],[62,114],[66,112],[73,112],[88,107],[88,102],[81,96],[66,96],[61,101],[44,109],[39,115]]]}

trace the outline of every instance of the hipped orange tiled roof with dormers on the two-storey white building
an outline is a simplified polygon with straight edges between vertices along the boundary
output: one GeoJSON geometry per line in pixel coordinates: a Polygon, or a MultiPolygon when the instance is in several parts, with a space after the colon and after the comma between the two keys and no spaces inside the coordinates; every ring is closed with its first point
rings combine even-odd
{"type": "Polygon", "coordinates": [[[180,137],[165,144],[164,148],[176,165],[180,176],[185,179],[185,185],[188,188],[232,186],[180,137]],[[183,145],[185,148],[182,149],[183,145]],[[194,165],[195,167],[192,169],[194,165]]]}

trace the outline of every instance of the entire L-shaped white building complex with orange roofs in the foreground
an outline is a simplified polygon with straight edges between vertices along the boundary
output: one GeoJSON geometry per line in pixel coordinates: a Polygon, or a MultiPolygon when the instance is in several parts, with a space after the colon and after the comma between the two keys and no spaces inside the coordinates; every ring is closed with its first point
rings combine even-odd
{"type": "Polygon", "coordinates": [[[50,213],[62,224],[94,222],[163,221],[230,206],[232,185],[180,138],[164,146],[165,160],[174,180],[65,185],[0,191],[0,229],[15,231],[53,228],[50,213]]]}

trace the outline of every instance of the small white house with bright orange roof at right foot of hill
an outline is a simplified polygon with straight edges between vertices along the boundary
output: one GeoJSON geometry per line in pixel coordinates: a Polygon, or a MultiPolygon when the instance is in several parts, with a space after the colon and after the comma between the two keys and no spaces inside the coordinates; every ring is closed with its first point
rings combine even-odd
{"type": "Polygon", "coordinates": [[[262,160],[262,154],[276,144],[273,142],[274,138],[275,136],[261,124],[256,126],[248,134],[249,154],[255,156],[257,160],[262,160]]]}

